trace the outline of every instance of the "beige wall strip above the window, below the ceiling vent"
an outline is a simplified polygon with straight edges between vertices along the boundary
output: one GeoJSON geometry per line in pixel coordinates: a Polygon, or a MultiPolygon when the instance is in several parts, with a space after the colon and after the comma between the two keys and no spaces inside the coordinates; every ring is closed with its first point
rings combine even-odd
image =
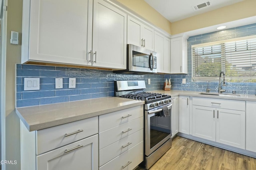
{"type": "MultiPolygon", "coordinates": [[[[172,35],[256,16],[256,0],[244,0],[172,23],[172,35]]],[[[255,21],[256,22],[256,21],[255,21]]]]}

